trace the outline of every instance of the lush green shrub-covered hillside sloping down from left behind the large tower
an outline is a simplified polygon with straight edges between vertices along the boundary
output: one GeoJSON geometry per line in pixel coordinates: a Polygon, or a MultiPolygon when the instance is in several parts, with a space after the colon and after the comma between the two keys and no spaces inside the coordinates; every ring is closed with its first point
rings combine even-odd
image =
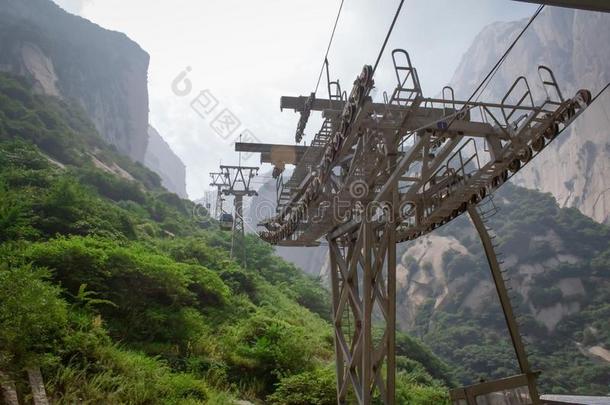
{"type": "MultiPolygon", "coordinates": [[[[107,146],[73,107],[0,75],[0,370],[54,403],[335,402],[328,293],[107,146]],[[121,170],[117,170],[119,167],[121,170]]],[[[400,403],[448,369],[399,336],[400,403]]]]}

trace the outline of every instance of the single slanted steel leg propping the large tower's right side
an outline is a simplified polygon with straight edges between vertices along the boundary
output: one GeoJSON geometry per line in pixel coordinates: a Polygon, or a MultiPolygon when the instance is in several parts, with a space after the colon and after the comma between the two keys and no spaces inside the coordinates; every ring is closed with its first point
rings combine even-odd
{"type": "Polygon", "coordinates": [[[504,313],[506,326],[510,334],[515,354],[517,356],[519,369],[521,370],[522,374],[525,374],[527,376],[528,388],[530,391],[532,404],[538,405],[540,404],[540,397],[538,395],[538,389],[536,387],[536,374],[532,372],[529,361],[527,359],[525,346],[523,344],[523,340],[521,339],[521,334],[519,333],[519,324],[515,319],[513,307],[511,305],[510,297],[506,289],[506,284],[504,283],[504,278],[502,277],[502,270],[500,268],[500,263],[498,262],[498,258],[494,250],[491,236],[487,231],[487,227],[485,226],[483,218],[481,218],[477,211],[476,205],[472,204],[468,206],[468,215],[470,216],[470,219],[475,229],[477,230],[477,233],[479,234],[481,243],[483,244],[483,250],[485,251],[485,256],[487,257],[487,262],[489,263],[489,269],[491,271],[491,276],[496,287],[496,292],[498,293],[502,312],[504,313]]]}

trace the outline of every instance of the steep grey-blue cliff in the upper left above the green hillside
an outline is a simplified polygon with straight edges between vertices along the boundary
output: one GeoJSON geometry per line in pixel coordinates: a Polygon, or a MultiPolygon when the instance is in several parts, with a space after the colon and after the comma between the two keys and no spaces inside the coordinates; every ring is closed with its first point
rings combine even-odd
{"type": "Polygon", "coordinates": [[[76,101],[109,143],[137,161],[148,142],[148,63],[124,34],[50,0],[0,0],[0,70],[76,101]]]}

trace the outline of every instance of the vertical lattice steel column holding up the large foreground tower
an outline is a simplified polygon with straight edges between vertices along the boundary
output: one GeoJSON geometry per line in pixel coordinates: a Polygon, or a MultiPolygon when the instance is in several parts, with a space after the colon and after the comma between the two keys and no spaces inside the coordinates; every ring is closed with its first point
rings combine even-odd
{"type": "Polygon", "coordinates": [[[328,237],[337,403],[378,396],[395,403],[396,232],[363,221],[355,234],[328,237]],[[353,329],[353,330],[351,330],[353,329]]]}

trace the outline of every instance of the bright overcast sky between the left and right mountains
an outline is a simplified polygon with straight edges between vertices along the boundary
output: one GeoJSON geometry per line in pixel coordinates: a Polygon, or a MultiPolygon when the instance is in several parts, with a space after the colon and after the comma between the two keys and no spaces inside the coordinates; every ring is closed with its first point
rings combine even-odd
{"type": "MultiPolygon", "coordinates": [[[[56,2],[124,32],[150,54],[150,122],[185,163],[191,198],[209,188],[208,173],[221,161],[237,163],[233,142],[239,133],[249,130],[260,142],[294,142],[298,115],[280,113],[280,96],[313,91],[339,6],[331,0],[56,2]],[[183,80],[172,86],[187,68],[190,88],[183,80]],[[210,95],[217,105],[208,103],[210,95]],[[193,100],[199,113],[191,107],[193,100]],[[221,130],[223,138],[210,124],[225,109],[241,124],[232,134],[221,130]]],[[[398,3],[345,0],[329,55],[331,78],[340,79],[345,90],[364,64],[375,62],[398,3]]],[[[404,48],[418,69],[424,95],[436,95],[485,25],[528,17],[535,8],[510,0],[407,0],[376,87],[393,89],[389,51],[404,48]]],[[[318,95],[325,96],[325,81],[320,87],[318,95]]],[[[308,126],[306,141],[317,129],[308,126]]],[[[245,163],[258,165],[258,156],[245,163]]]]}

